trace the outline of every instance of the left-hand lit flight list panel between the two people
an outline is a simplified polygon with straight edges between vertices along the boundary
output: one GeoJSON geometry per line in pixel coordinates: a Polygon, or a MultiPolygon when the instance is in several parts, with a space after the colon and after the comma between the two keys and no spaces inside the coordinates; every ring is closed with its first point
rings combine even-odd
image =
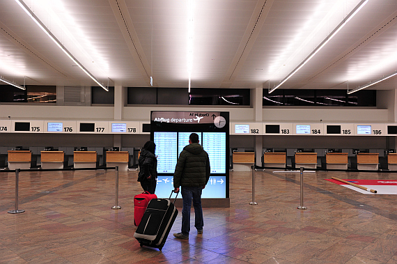
{"type": "Polygon", "coordinates": [[[157,173],[173,173],[177,157],[177,132],[155,132],[157,173]]]}

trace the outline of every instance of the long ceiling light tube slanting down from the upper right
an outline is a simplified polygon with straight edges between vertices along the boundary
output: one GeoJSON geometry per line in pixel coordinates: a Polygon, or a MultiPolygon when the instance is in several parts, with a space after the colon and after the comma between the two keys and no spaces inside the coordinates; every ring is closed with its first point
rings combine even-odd
{"type": "Polygon", "coordinates": [[[275,86],[274,88],[272,88],[272,90],[269,91],[269,93],[272,93],[274,90],[276,90],[277,88],[279,88],[283,83],[285,83],[288,79],[290,79],[290,77],[292,77],[293,75],[295,75],[295,73],[300,70],[308,61],[311,60],[311,58],[313,58],[314,55],[317,54],[317,52],[320,51],[320,49],[322,49],[322,47],[324,47],[329,40],[331,40],[332,38],[334,38],[334,36],[336,35],[336,33],[338,33],[343,26],[345,26],[345,24],[347,24],[352,17],[354,17],[361,8],[363,8],[363,6],[368,2],[368,0],[361,0],[359,2],[359,4],[348,14],[347,17],[345,17],[344,20],[342,20],[342,22],[340,24],[338,24],[338,26],[336,26],[336,28],[327,36],[327,38],[325,38],[324,40],[322,40],[322,42],[320,43],[320,45],[318,45],[316,47],[316,49],[313,50],[313,52],[311,52],[311,54],[309,54],[309,56],[306,57],[306,59],[304,59],[304,61],[302,61],[302,63],[300,63],[299,65],[297,65],[297,68],[295,68],[292,72],[290,72],[289,75],[287,75],[287,77],[285,77],[277,86],[275,86]]]}

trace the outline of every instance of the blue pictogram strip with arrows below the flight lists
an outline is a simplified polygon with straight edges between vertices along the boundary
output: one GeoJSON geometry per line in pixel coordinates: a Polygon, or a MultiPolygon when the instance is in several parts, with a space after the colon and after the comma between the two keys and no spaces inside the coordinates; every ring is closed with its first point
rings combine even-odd
{"type": "MultiPolygon", "coordinates": [[[[225,198],[226,176],[210,176],[203,189],[201,198],[225,198]]],[[[156,195],[158,198],[169,198],[173,189],[173,176],[157,176],[156,195]]],[[[178,198],[181,198],[178,196],[178,198]]]]}

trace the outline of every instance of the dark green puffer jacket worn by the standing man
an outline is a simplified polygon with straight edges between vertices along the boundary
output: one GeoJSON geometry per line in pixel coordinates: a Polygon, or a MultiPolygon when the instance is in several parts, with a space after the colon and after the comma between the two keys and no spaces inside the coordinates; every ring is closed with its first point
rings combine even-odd
{"type": "Polygon", "coordinates": [[[210,173],[208,153],[199,143],[191,143],[179,155],[173,173],[173,187],[204,187],[210,179],[210,173]]]}

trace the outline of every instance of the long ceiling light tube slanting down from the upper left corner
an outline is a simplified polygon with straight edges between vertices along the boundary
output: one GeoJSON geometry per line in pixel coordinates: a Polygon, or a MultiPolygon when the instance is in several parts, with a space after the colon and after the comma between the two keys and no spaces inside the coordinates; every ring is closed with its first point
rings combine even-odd
{"type": "Polygon", "coordinates": [[[83,70],[83,72],[86,73],[86,75],[88,75],[91,79],[93,79],[93,81],[95,81],[99,86],[101,86],[102,88],[104,88],[105,91],[109,92],[109,89],[106,88],[103,84],[101,84],[92,74],[91,72],[89,72],[81,63],[79,63],[79,61],[77,61],[77,59],[68,51],[68,49],[66,49],[65,46],[63,46],[61,44],[61,42],[58,40],[58,38],[56,38],[54,36],[53,33],[51,33],[51,31],[49,31],[49,29],[47,29],[47,26],[45,26],[45,24],[43,24],[41,22],[41,20],[38,19],[38,17],[30,10],[30,8],[28,6],[26,6],[26,3],[24,3],[24,1],[22,0],[15,0],[20,6],[21,8],[26,12],[26,14],[29,15],[29,17],[31,17],[31,19],[36,22],[36,24],[38,24],[38,26],[40,26],[40,29],[42,29],[42,31],[44,31],[47,36],[49,36],[49,38],[51,38],[52,41],[55,42],[55,44],[62,49],[62,51],[68,55],[68,57],[74,62],[76,63],[79,68],[81,70],[83,70]]]}

